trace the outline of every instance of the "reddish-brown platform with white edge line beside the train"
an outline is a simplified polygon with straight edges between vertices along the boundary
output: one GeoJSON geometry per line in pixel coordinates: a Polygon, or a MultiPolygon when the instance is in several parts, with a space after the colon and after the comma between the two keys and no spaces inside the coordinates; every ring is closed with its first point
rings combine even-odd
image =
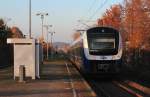
{"type": "Polygon", "coordinates": [[[45,61],[41,78],[18,83],[13,69],[1,70],[0,97],[96,97],[76,68],[65,60],[45,61]]]}

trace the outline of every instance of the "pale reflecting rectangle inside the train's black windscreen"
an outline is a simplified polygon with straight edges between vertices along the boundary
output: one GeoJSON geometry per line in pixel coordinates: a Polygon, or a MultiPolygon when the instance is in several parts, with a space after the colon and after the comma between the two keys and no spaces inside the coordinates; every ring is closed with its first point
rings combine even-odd
{"type": "Polygon", "coordinates": [[[115,49],[115,39],[90,39],[91,50],[115,49]]]}

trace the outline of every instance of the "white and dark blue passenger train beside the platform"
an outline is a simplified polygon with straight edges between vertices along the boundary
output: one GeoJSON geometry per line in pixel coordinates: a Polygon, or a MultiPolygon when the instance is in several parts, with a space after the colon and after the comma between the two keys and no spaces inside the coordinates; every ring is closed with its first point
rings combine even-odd
{"type": "Polygon", "coordinates": [[[110,27],[93,27],[71,43],[69,58],[86,74],[119,73],[122,59],[119,31],[110,27]]]}

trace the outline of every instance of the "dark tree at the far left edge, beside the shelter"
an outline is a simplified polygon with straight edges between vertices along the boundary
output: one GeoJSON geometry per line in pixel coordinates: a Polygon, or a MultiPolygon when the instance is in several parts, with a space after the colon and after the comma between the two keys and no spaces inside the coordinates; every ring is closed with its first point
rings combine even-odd
{"type": "Polygon", "coordinates": [[[12,34],[6,27],[4,20],[0,19],[0,67],[8,66],[13,60],[12,46],[7,44],[7,38],[10,38],[12,34]]]}

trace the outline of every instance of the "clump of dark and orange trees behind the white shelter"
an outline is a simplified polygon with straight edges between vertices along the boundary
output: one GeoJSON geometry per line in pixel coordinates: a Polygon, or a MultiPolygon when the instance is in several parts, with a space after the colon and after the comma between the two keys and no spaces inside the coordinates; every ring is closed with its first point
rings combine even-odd
{"type": "Polygon", "coordinates": [[[8,27],[0,19],[0,67],[13,64],[13,46],[7,44],[7,38],[23,38],[23,33],[18,27],[8,27]]]}

